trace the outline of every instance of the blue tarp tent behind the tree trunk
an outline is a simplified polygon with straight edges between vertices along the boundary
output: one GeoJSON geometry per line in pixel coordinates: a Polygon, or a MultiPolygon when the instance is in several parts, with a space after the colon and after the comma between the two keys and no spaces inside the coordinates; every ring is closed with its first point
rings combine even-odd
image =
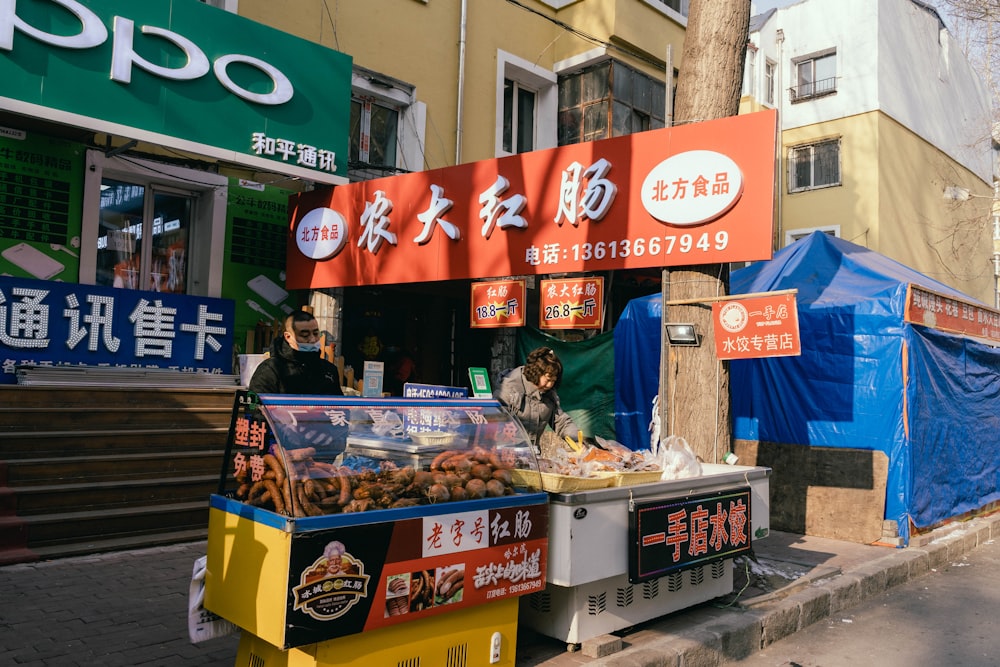
{"type": "MultiPolygon", "coordinates": [[[[929,528],[1000,500],[1000,350],[904,321],[910,284],[978,303],[819,232],[731,278],[733,294],[797,289],[802,343],[798,357],[730,363],[733,437],[884,452],[885,518],[907,541],[910,525],[929,528]]],[[[637,428],[635,412],[649,421],[660,321],[650,301],[659,298],[630,303],[615,330],[619,432],[637,428]],[[655,319],[655,333],[638,333],[640,317],[644,326],[655,319]]]]}

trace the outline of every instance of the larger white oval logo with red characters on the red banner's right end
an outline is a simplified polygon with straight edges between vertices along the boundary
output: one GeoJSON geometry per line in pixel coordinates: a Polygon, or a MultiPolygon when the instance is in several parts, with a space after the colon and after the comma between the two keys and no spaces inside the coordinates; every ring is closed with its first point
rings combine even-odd
{"type": "Polygon", "coordinates": [[[642,182],[642,205],[668,225],[715,220],[743,194],[743,172],[728,155],[687,151],[653,167],[642,182]]]}

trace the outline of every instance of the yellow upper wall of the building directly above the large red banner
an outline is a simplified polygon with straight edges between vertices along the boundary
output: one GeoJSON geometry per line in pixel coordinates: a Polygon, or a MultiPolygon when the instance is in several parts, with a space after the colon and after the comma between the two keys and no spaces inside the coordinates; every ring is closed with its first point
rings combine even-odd
{"type": "MultiPolygon", "coordinates": [[[[424,159],[423,165],[405,166],[435,169],[455,164],[456,158],[461,4],[458,0],[366,0],[333,5],[323,0],[240,0],[238,10],[247,18],[346,53],[355,66],[413,86],[414,99],[426,107],[424,159]]],[[[540,148],[555,145],[557,68],[579,68],[608,54],[663,77],[668,42],[675,45],[674,66],[680,62],[683,27],[676,14],[658,3],[580,0],[562,6],[565,3],[525,0],[522,4],[538,13],[506,0],[467,3],[460,162],[498,155],[498,76],[502,78],[504,57],[512,56],[509,59],[524,69],[551,80],[552,114],[540,119],[540,148]],[[622,49],[595,44],[546,17],[558,18],[599,42],[622,49]],[[629,51],[646,55],[636,57],[629,51]]]]}

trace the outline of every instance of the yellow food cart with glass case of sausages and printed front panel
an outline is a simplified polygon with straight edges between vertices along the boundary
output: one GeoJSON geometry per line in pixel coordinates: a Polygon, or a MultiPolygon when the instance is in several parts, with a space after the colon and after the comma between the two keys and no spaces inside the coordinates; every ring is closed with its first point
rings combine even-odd
{"type": "Polygon", "coordinates": [[[531,451],[492,400],[238,392],[205,576],[236,664],[513,665],[545,585],[531,451]]]}

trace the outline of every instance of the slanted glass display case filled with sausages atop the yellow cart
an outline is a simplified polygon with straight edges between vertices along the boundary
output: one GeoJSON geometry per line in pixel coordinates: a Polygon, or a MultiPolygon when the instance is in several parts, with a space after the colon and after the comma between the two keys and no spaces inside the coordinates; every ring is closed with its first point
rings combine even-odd
{"type": "Polygon", "coordinates": [[[219,493],[290,517],[538,490],[538,463],[498,402],[237,397],[219,493]]]}

